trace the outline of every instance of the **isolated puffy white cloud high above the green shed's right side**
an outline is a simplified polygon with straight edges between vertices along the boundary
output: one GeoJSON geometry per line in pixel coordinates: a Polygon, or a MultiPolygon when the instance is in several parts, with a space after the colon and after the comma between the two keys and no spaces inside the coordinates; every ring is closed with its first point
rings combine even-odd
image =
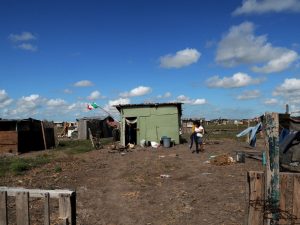
{"type": "Polygon", "coordinates": [[[186,48],[176,52],[175,55],[165,55],[160,57],[162,68],[181,68],[196,63],[201,53],[194,48],[186,48]]]}

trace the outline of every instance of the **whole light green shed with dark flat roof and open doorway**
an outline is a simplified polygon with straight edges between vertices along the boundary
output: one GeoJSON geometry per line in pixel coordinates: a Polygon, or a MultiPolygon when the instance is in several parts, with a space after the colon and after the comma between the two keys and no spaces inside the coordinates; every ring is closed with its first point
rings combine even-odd
{"type": "Polygon", "coordinates": [[[121,114],[121,144],[141,140],[160,142],[170,137],[180,143],[182,103],[147,103],[115,106],[121,114]],[[130,140],[131,139],[131,140],[130,140]]]}

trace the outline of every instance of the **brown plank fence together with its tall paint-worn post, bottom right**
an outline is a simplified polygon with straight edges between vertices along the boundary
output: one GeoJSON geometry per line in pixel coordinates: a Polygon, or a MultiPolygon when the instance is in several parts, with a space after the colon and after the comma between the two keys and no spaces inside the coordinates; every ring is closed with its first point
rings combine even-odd
{"type": "Polygon", "coordinates": [[[279,133],[288,114],[261,117],[265,139],[264,172],[248,172],[248,225],[300,224],[300,173],[280,172],[279,133]]]}

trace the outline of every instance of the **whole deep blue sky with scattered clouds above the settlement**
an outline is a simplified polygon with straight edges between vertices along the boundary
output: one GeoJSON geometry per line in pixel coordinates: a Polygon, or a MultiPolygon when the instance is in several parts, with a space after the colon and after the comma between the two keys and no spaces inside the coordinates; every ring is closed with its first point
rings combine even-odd
{"type": "Polygon", "coordinates": [[[183,117],[300,110],[300,0],[0,2],[0,118],[183,102],[183,117]]]}

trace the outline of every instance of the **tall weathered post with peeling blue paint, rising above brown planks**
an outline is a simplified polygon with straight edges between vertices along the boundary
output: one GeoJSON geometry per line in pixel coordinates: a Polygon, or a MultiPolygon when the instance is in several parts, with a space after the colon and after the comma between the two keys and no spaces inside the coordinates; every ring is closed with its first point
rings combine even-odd
{"type": "MultiPolygon", "coordinates": [[[[266,188],[265,200],[273,209],[279,209],[279,117],[277,113],[266,113],[264,121],[266,141],[266,188]]],[[[278,210],[271,212],[271,218],[266,220],[266,225],[278,225],[278,210]]]]}

